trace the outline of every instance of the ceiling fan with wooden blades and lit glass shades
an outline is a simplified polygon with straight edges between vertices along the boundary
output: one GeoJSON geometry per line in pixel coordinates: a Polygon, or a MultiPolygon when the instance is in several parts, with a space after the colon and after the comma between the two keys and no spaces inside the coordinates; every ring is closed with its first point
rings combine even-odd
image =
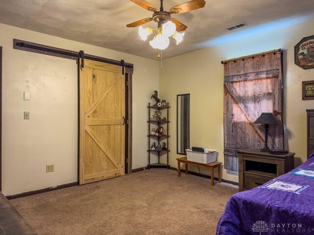
{"type": "Polygon", "coordinates": [[[155,6],[146,0],[131,0],[135,4],[145,8],[146,10],[152,11],[153,16],[149,18],[144,18],[142,20],[127,24],[127,27],[137,27],[142,24],[146,24],[151,21],[158,23],[157,28],[143,28],[140,26],[138,28],[138,34],[142,40],[146,40],[149,35],[153,33],[153,30],[157,30],[157,35],[154,39],[150,41],[150,45],[153,48],[163,50],[169,46],[169,37],[173,37],[177,41],[177,45],[183,40],[184,30],[187,26],[175,18],[171,17],[171,14],[182,14],[185,12],[193,11],[205,6],[205,0],[191,0],[183,4],[171,7],[169,11],[163,10],[163,0],[160,0],[159,11],[155,6]],[[183,33],[181,33],[183,32],[183,33]]]}

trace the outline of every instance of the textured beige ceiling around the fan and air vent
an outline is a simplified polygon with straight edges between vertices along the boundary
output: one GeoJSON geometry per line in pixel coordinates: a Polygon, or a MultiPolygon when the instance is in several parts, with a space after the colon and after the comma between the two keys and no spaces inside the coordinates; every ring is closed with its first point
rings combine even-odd
{"type": "MultiPolygon", "coordinates": [[[[148,1],[159,7],[159,0],[148,1]]],[[[185,1],[164,0],[164,9],[185,1]]],[[[130,0],[0,0],[0,23],[157,59],[137,27],[126,27],[151,16],[130,0]]],[[[163,58],[314,19],[314,5],[313,0],[206,0],[204,8],[172,16],[188,28],[179,46],[170,40],[163,58]],[[226,30],[242,22],[248,27],[226,30]]]]}

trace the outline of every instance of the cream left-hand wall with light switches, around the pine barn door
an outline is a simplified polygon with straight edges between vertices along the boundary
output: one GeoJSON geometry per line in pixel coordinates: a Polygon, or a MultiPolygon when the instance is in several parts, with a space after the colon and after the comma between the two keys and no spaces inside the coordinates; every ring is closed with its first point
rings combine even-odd
{"type": "Polygon", "coordinates": [[[76,182],[78,174],[76,62],[13,49],[13,38],[133,63],[132,168],[147,164],[146,106],[158,89],[157,61],[0,24],[5,195],[76,182]],[[25,91],[30,101],[23,100],[25,91]],[[24,111],[30,111],[30,120],[23,119],[24,111]],[[46,173],[46,164],[55,171],[46,173]]]}

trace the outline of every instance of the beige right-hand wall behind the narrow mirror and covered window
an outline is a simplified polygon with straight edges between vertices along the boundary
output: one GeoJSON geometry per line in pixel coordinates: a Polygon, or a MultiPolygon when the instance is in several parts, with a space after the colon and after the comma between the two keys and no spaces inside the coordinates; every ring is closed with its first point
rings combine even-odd
{"type": "MultiPolygon", "coordinates": [[[[284,49],[285,135],[288,149],[296,153],[296,164],[306,160],[306,109],[314,100],[303,101],[301,82],[314,80],[314,69],[294,65],[294,46],[314,35],[314,20],[208,47],[163,61],[159,87],[161,96],[172,106],[170,118],[170,164],[176,167],[176,95],[190,93],[190,146],[218,150],[223,162],[223,65],[235,57],[284,49]]],[[[197,171],[197,168],[192,168],[197,171]]],[[[201,169],[201,173],[207,173],[201,169]]],[[[237,172],[223,170],[223,178],[238,181],[237,172]]]]}

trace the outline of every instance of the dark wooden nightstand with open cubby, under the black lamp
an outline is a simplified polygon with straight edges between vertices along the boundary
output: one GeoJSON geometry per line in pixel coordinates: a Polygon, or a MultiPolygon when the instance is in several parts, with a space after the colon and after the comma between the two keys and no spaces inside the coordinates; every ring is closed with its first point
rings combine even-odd
{"type": "Polygon", "coordinates": [[[294,153],[271,154],[260,149],[238,151],[239,191],[258,187],[294,168],[294,153]]]}

